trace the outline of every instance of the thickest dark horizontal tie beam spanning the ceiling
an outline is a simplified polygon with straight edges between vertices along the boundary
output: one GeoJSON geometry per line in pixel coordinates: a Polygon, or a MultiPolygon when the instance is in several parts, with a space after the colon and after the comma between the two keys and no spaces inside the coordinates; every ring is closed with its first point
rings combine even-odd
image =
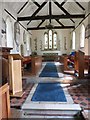
{"type": "MultiPolygon", "coordinates": [[[[74,15],[52,15],[51,19],[71,19],[71,18],[84,18],[85,14],[74,14],[74,15]]],[[[45,16],[27,16],[27,17],[18,17],[17,20],[18,21],[28,21],[28,20],[46,20],[49,19],[50,16],[49,15],[45,15],[45,16]]]]}

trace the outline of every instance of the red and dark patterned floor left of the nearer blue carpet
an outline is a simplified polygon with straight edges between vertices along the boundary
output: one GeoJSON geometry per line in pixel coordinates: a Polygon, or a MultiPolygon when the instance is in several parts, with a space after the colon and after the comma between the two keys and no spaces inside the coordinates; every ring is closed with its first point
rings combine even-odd
{"type": "Polygon", "coordinates": [[[21,98],[16,98],[16,97],[10,98],[11,108],[17,108],[17,109],[21,108],[22,104],[25,102],[27,96],[29,95],[30,90],[32,89],[33,85],[34,85],[33,83],[26,84],[26,81],[24,80],[24,82],[23,82],[24,94],[21,98]]]}

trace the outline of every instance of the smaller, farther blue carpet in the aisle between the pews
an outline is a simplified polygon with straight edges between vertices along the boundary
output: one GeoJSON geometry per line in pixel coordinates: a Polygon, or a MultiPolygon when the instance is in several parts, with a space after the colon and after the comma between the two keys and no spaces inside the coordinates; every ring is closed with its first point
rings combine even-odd
{"type": "Polygon", "coordinates": [[[39,77],[59,77],[56,65],[54,63],[47,63],[39,77]]]}

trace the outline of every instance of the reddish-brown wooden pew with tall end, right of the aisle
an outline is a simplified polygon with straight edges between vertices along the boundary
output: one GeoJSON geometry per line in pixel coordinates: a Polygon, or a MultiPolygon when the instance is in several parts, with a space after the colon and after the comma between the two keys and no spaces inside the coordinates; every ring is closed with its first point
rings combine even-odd
{"type": "Polygon", "coordinates": [[[82,79],[85,77],[84,71],[88,70],[90,74],[90,55],[85,55],[84,52],[78,50],[74,56],[74,71],[68,68],[68,56],[64,56],[64,71],[65,73],[78,74],[78,78],[82,79]]]}

